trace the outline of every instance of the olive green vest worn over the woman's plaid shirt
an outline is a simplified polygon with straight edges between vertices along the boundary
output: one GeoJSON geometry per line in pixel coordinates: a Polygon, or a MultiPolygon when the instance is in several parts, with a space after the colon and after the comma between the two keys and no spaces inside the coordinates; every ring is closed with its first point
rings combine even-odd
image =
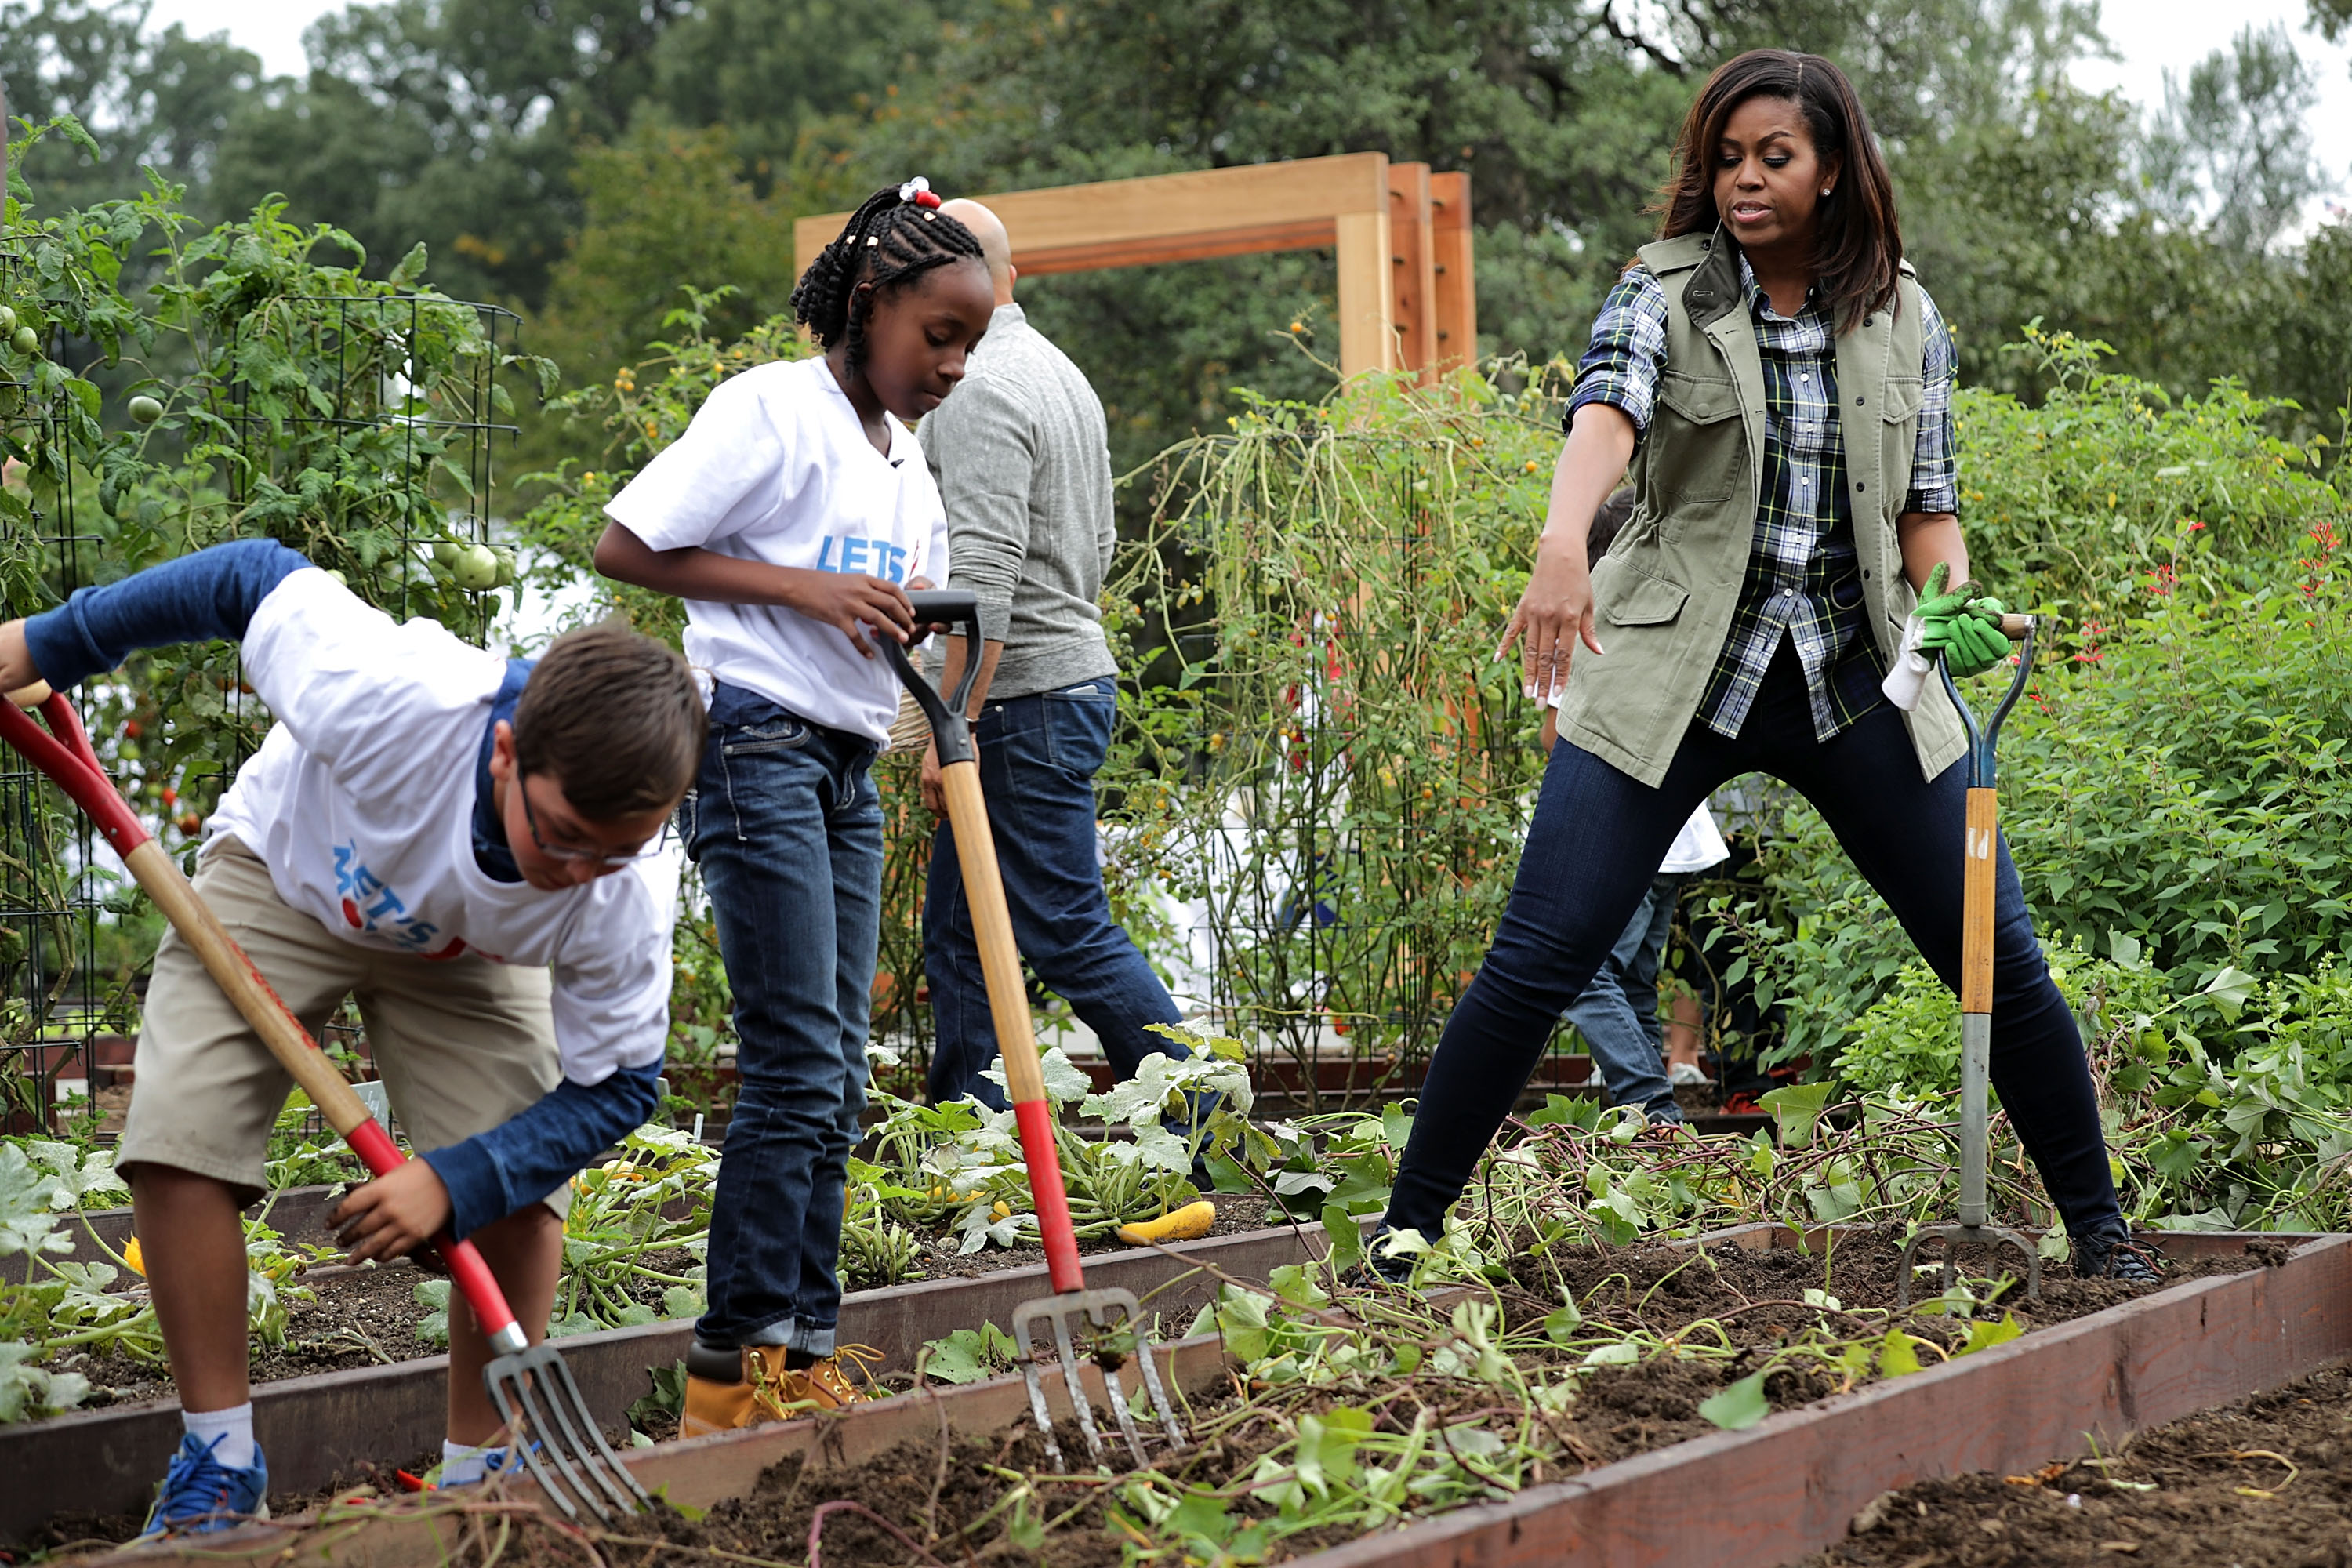
{"type": "MultiPolygon", "coordinates": [[[[1665,284],[1665,371],[1632,461],[1632,520],[1592,564],[1606,654],[1578,651],[1559,733],[1656,788],[1698,712],[1748,576],[1764,468],[1764,357],[1729,240],[1661,240],[1642,247],[1642,263],[1665,284]]],[[[1896,548],[1924,390],[1910,263],[1898,289],[1893,315],[1865,315],[1837,339],[1863,604],[1889,665],[1917,602],[1896,548]]],[[[1945,701],[1919,703],[1905,722],[1929,778],[1966,750],[1945,701]]]]}

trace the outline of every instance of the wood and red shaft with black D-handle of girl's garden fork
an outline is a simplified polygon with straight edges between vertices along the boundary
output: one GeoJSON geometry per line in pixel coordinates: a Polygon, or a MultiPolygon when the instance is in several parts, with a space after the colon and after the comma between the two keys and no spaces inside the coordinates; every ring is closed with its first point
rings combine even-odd
{"type": "Polygon", "coordinates": [[[1037,1239],[1044,1244],[1047,1274],[1056,1293],[1084,1291],[1077,1234],[1070,1229],[1070,1199],[1061,1185],[1061,1154],[1054,1150],[1054,1110],[1044,1098],[1028,985],[1021,980],[1021,950],[1014,947],[1014,919],[997,872],[997,842],[988,830],[988,802],[981,799],[981,764],[971,750],[971,722],[964,717],[971,705],[971,682],[981,672],[981,604],[962,588],[920,590],[908,599],[915,604],[915,625],[964,628],[964,675],[946,698],[894,639],[882,639],[882,654],[931,719],[931,741],[938,745],[938,788],[948,797],[955,858],[964,867],[964,900],[971,905],[981,978],[988,983],[988,1016],[997,1025],[1004,1084],[1011,1088],[1014,1124],[1021,1128],[1021,1157],[1030,1173],[1030,1199],[1037,1204],[1037,1239]]]}

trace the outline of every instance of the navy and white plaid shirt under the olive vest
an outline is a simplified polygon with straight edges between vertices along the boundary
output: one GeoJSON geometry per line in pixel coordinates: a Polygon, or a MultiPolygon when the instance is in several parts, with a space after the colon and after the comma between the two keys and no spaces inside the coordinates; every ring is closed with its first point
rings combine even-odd
{"type": "MultiPolygon", "coordinates": [[[[1719,736],[1738,736],[1764,670],[1788,635],[1813,696],[1813,736],[1830,741],[1879,703],[1877,682],[1837,682],[1837,665],[1877,644],[1863,630],[1863,581],[1846,503],[1846,449],[1837,414],[1837,324],[1816,292],[1795,317],[1773,310],[1740,256],[1740,287],[1764,357],[1764,473],[1757,482],[1757,536],[1731,632],[1698,701],[1698,717],[1719,736]],[[1851,689],[1849,689],[1851,686],[1851,689]]],[[[1952,331],[1936,301],[1919,292],[1926,339],[1926,388],[1919,444],[1912,449],[1905,512],[1957,512],[1952,458],[1952,331]]],[[[1625,411],[1646,435],[1658,374],[1665,369],[1665,284],[1649,268],[1628,270],[1592,324],[1576,367],[1569,418],[1588,402],[1625,411]]]]}

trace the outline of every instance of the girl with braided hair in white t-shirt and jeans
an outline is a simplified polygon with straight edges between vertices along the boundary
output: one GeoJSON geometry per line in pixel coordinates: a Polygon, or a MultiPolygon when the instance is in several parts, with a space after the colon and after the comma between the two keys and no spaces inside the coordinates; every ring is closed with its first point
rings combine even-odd
{"type": "Polygon", "coordinates": [[[734,985],[741,1098],[710,1213],[687,1436],[858,1399],[835,1356],[849,1150],[866,1107],[882,804],[898,689],[948,515],[908,421],[995,310],[981,247],[922,179],[875,190],[793,289],[814,360],[722,381],[604,508],[604,576],[687,602],[710,743],[680,806],[734,985]]]}

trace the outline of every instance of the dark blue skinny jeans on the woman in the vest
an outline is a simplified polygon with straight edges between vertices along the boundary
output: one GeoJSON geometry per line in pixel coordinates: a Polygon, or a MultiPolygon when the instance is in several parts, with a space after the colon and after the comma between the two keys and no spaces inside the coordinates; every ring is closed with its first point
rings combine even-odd
{"type": "MultiPolygon", "coordinates": [[[[1839,677],[1875,696],[1867,658],[1839,677]]],[[[1966,764],[1922,780],[1903,715],[1886,703],[1816,741],[1804,675],[1783,642],[1740,738],[1693,722],[1656,790],[1569,741],[1552,748],[1503,924],[1430,1058],[1388,1225],[1442,1234],[1552,1020],[1609,957],[1682,823],[1740,773],[1771,773],[1813,802],[1919,954],[1957,985],[1966,764]]],[[[2082,1034],[2042,961],[2006,844],[1994,879],[1992,1086],[2065,1227],[2079,1237],[2119,1222],[2082,1034]]]]}

